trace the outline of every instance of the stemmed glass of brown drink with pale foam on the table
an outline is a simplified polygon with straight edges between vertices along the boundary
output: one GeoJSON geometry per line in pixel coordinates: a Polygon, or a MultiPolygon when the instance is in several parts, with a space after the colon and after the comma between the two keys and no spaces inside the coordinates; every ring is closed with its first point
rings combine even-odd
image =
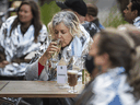
{"type": "Polygon", "coordinates": [[[74,86],[78,83],[78,70],[68,70],[67,74],[68,74],[68,83],[72,88],[72,89],[70,88],[68,92],[77,93],[78,91],[74,90],[74,86]]]}

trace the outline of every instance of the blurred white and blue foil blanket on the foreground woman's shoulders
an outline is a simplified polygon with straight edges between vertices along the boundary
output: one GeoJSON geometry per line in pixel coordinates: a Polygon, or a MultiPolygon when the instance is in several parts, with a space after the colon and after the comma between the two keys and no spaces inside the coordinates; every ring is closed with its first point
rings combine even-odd
{"type": "Polygon", "coordinates": [[[136,102],[132,88],[127,83],[125,69],[117,67],[100,74],[94,80],[93,96],[86,105],[140,105],[136,102]]]}

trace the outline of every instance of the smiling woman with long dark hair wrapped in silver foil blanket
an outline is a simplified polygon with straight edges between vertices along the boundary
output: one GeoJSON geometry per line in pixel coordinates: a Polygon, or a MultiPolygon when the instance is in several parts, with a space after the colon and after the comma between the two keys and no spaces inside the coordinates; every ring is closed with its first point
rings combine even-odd
{"type": "Polygon", "coordinates": [[[35,1],[23,1],[18,15],[10,16],[0,30],[0,45],[5,52],[5,60],[0,63],[0,79],[23,79],[30,61],[25,56],[38,50],[45,39],[47,28],[40,22],[39,7],[35,1]]]}

